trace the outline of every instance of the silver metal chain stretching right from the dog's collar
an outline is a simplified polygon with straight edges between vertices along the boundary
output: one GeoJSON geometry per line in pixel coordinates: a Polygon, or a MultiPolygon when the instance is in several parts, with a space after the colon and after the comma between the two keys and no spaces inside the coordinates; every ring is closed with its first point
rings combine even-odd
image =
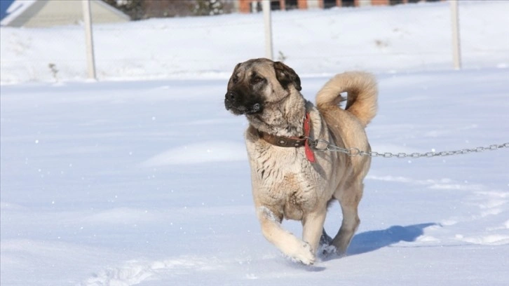
{"type": "MultiPolygon", "coordinates": [[[[311,139],[311,138],[308,138],[311,139]]],[[[341,152],[344,154],[347,154],[348,156],[369,156],[369,157],[383,157],[383,158],[432,158],[437,156],[452,156],[452,155],[461,155],[461,154],[469,154],[469,153],[478,153],[482,151],[494,151],[502,148],[509,148],[509,142],[504,144],[492,144],[489,145],[489,147],[477,147],[473,149],[461,149],[461,150],[454,150],[454,151],[440,151],[440,152],[426,152],[426,153],[391,153],[391,152],[374,152],[374,151],[362,151],[358,148],[351,147],[351,148],[341,148],[337,147],[327,140],[324,139],[315,139],[311,141],[311,147],[313,147],[316,151],[334,151],[334,152],[341,152]],[[319,144],[325,144],[325,147],[318,147],[319,144]]]]}

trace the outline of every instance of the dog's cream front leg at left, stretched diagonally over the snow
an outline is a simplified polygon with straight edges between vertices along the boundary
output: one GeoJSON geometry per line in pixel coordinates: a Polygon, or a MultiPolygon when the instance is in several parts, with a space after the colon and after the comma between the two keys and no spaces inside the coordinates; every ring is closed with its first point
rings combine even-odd
{"type": "MultiPolygon", "coordinates": [[[[281,227],[281,219],[268,207],[258,207],[258,219],[265,238],[289,257],[309,265],[315,262],[315,252],[309,243],[295,237],[281,227]]],[[[320,236],[318,236],[318,239],[320,236]]]]}

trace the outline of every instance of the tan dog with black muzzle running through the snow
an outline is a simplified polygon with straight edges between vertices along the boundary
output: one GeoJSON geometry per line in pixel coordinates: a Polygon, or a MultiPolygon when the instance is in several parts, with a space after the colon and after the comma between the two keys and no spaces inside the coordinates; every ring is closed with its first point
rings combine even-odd
{"type": "Polygon", "coordinates": [[[365,127],[376,114],[378,91],[374,76],[362,71],[332,77],[316,95],[316,106],[300,90],[299,76],[283,62],[247,60],[233,69],[224,106],[249,122],[245,144],[264,237],[309,265],[320,243],[346,255],[360,224],[362,181],[371,164],[369,156],[324,151],[320,144],[369,152],[365,127]],[[345,92],[346,98],[341,96],[345,92]],[[343,221],[332,239],[323,224],[334,200],[343,221]],[[301,221],[302,239],[283,229],[283,218],[301,221]]]}

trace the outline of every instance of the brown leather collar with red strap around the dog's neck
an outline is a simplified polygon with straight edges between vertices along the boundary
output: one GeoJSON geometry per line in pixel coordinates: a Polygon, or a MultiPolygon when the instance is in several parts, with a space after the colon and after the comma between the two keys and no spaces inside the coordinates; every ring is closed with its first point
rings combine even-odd
{"type": "Polygon", "coordinates": [[[262,132],[258,130],[258,134],[262,139],[266,142],[276,145],[278,147],[302,147],[304,146],[304,152],[306,153],[306,158],[311,163],[315,163],[315,154],[313,154],[313,150],[309,144],[309,135],[311,133],[311,116],[306,112],[306,117],[304,118],[304,136],[301,137],[285,137],[285,136],[276,136],[266,132],[262,132]]]}

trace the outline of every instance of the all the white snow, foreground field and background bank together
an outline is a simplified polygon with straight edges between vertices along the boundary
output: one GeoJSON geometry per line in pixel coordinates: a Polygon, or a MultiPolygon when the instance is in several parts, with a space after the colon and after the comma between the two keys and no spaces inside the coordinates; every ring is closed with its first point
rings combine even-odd
{"type": "MultiPolygon", "coordinates": [[[[509,53],[473,50],[509,50],[501,36],[509,27],[507,8],[505,1],[461,2],[462,27],[468,27],[461,71],[450,69],[448,29],[431,33],[438,24],[423,25],[416,17],[445,25],[448,6],[442,3],[274,13],[274,24],[282,25],[275,26],[276,50],[287,45],[286,62],[301,74],[310,100],[330,74],[350,68],[375,73],[379,114],[367,128],[374,151],[487,147],[509,142],[509,53]],[[355,21],[358,29],[341,29],[339,41],[323,27],[327,21],[355,21]],[[395,36],[392,27],[405,29],[405,36],[395,36]],[[290,35],[282,36],[283,28],[302,34],[294,36],[294,47],[285,43],[290,35]],[[391,53],[418,50],[396,57],[368,48],[377,38],[391,39],[391,53]],[[317,47],[323,55],[306,58],[317,47]],[[420,54],[435,49],[443,53],[420,54]],[[327,57],[332,53],[338,55],[334,60],[327,57]],[[348,53],[359,56],[338,60],[348,53]]],[[[65,69],[57,62],[58,83],[47,70],[50,57],[66,62],[79,43],[62,41],[58,55],[43,40],[78,28],[1,28],[1,285],[508,284],[507,148],[374,158],[360,228],[346,257],[319,257],[314,266],[303,266],[263,238],[243,143],[247,121],[223,104],[225,79],[236,62],[263,53],[262,34],[250,31],[262,27],[252,24],[255,18],[98,26],[104,39],[118,29],[144,29],[150,41],[125,50],[168,50],[164,60],[175,57],[175,67],[167,62],[163,71],[140,59],[133,62],[142,63],[139,71],[130,72],[128,52],[108,48],[116,41],[112,37],[98,48],[119,53],[120,60],[111,62],[111,74],[99,69],[97,82],[81,79],[79,62],[67,62],[65,69]],[[171,41],[188,41],[171,45],[161,31],[151,30],[156,25],[206,29],[198,29],[194,39],[189,30],[173,34],[171,41]],[[233,36],[238,29],[247,30],[233,36]],[[214,41],[205,44],[203,36],[214,41]],[[31,44],[13,55],[20,42],[31,44]],[[34,59],[46,62],[38,67],[34,59]]],[[[340,221],[334,205],[325,228],[334,233],[340,221]]],[[[298,222],[283,227],[300,235],[298,222]]]]}

